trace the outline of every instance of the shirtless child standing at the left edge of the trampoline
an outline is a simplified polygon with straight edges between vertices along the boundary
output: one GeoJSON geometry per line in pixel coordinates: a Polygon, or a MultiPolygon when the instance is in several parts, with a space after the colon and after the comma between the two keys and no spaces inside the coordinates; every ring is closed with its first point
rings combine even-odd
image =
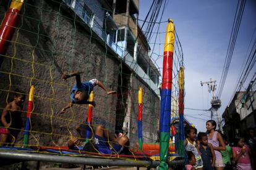
{"type": "Polygon", "coordinates": [[[15,90],[14,99],[2,111],[0,121],[0,146],[14,145],[20,129],[22,128],[22,103],[25,95],[22,91],[15,90]],[[13,140],[12,140],[13,139],[13,140]]]}

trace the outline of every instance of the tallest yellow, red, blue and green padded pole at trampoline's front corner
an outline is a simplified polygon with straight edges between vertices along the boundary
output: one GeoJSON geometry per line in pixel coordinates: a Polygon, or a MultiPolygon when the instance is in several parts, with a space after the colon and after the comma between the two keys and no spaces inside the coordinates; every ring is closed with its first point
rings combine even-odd
{"type": "Polygon", "coordinates": [[[159,169],[168,169],[168,147],[171,124],[171,87],[173,83],[173,52],[174,52],[174,25],[169,20],[166,27],[163,57],[163,83],[161,87],[160,113],[160,160],[159,169]]]}

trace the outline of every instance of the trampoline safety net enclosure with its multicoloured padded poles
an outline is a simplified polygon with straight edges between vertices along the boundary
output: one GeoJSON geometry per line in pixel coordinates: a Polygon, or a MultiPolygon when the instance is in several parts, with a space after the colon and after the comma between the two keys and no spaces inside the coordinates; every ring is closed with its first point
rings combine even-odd
{"type": "Polygon", "coordinates": [[[8,126],[0,124],[9,137],[0,156],[11,151],[150,160],[163,169],[184,158],[184,62],[174,22],[155,23],[167,30],[147,39],[134,15],[97,3],[0,2],[0,113],[9,115],[8,126]],[[82,91],[73,91],[74,84],[92,79],[105,89],[96,83],[89,103],[72,102],[72,93],[82,91]],[[16,127],[17,108],[7,105],[20,95],[22,126],[16,127]],[[95,137],[99,125],[104,139],[95,137]],[[116,150],[122,136],[129,142],[116,150]],[[99,150],[98,139],[110,153],[99,150]]]}

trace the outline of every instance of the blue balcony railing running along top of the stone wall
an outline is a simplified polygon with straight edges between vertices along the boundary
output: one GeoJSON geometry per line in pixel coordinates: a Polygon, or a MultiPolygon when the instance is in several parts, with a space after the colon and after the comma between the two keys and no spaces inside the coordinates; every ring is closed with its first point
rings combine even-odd
{"type": "Polygon", "coordinates": [[[87,9],[85,9],[84,2],[82,1],[76,1],[76,0],[62,0],[64,1],[67,6],[69,6],[72,10],[74,10],[75,14],[77,14],[83,22],[87,23],[90,28],[98,35],[100,38],[106,42],[118,55],[123,57],[124,51],[121,47],[119,47],[116,44],[115,36],[116,33],[109,33],[107,34],[106,30],[103,29],[103,26],[101,26],[93,17],[93,13],[89,12],[87,9]],[[109,38],[108,38],[109,37],[109,38]]]}

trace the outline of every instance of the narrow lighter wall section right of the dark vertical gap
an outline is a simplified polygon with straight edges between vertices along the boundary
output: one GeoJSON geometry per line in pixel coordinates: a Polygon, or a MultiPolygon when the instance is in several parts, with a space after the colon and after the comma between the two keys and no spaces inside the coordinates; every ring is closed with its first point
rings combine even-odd
{"type": "Polygon", "coordinates": [[[137,142],[138,140],[138,124],[137,124],[137,112],[138,112],[138,90],[142,87],[142,136],[143,142],[155,142],[157,139],[157,131],[159,129],[160,120],[160,99],[155,95],[153,91],[150,91],[145,86],[140,78],[132,76],[132,89],[130,93],[130,102],[132,108],[130,111],[130,139],[131,142],[137,142]]]}

